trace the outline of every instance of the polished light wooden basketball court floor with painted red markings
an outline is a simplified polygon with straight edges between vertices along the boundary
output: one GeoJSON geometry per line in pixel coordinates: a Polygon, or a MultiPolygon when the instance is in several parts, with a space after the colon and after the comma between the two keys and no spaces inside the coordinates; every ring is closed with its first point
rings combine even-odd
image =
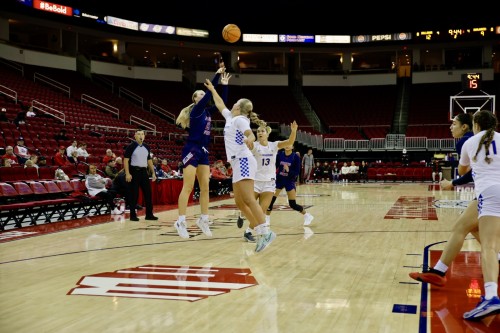
{"type": "MultiPolygon", "coordinates": [[[[280,196],[263,252],[236,226],[234,200],[210,204],[213,237],[188,209],[158,222],[87,217],[0,233],[0,332],[500,332],[500,315],[462,320],[483,290],[468,237],[444,288],[408,277],[439,258],[470,188],[430,183],[311,184],[280,196]]],[[[171,208],[168,210],[167,208],[171,208]]],[[[246,223],[245,223],[246,227],[246,223]]]]}

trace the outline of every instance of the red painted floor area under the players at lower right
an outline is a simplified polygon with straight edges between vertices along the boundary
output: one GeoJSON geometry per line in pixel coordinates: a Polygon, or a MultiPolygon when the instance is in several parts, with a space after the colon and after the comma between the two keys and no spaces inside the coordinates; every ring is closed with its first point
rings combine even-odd
{"type": "MultiPolygon", "coordinates": [[[[439,260],[441,251],[431,251],[430,264],[439,260]]],[[[499,333],[500,314],[478,322],[462,319],[484,295],[480,252],[460,252],[447,274],[445,287],[430,287],[430,332],[432,333],[499,333]]]]}

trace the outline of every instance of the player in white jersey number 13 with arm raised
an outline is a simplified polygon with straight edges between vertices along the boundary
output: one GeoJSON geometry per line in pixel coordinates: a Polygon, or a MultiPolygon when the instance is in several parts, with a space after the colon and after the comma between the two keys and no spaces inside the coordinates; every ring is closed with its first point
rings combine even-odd
{"type": "MultiPolygon", "coordinates": [[[[257,161],[257,173],[253,190],[255,199],[259,200],[260,207],[265,213],[276,190],[276,154],[278,150],[288,146],[292,146],[297,136],[298,125],[294,121],[290,124],[290,136],[283,141],[268,141],[271,127],[259,126],[257,128],[257,140],[250,149],[252,150],[255,160],[257,161]]],[[[270,216],[266,215],[266,223],[269,225],[270,216]]],[[[239,226],[239,225],[238,225],[239,226]]],[[[243,233],[243,238],[247,242],[254,242],[252,229],[247,228],[243,233]]]]}

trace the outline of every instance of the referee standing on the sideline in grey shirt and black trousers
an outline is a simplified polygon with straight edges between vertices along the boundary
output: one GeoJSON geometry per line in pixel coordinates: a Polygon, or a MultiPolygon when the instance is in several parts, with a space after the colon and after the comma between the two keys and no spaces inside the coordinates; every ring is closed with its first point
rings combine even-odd
{"type": "Polygon", "coordinates": [[[153,161],[151,160],[151,150],[144,144],[144,131],[135,132],[135,141],[125,148],[123,158],[123,168],[125,169],[125,180],[128,183],[130,221],[139,221],[136,213],[137,198],[139,197],[139,188],[142,190],[144,200],[146,201],[146,220],[158,220],[153,215],[153,202],[151,199],[151,183],[149,182],[148,168],[156,181],[153,161]]]}

